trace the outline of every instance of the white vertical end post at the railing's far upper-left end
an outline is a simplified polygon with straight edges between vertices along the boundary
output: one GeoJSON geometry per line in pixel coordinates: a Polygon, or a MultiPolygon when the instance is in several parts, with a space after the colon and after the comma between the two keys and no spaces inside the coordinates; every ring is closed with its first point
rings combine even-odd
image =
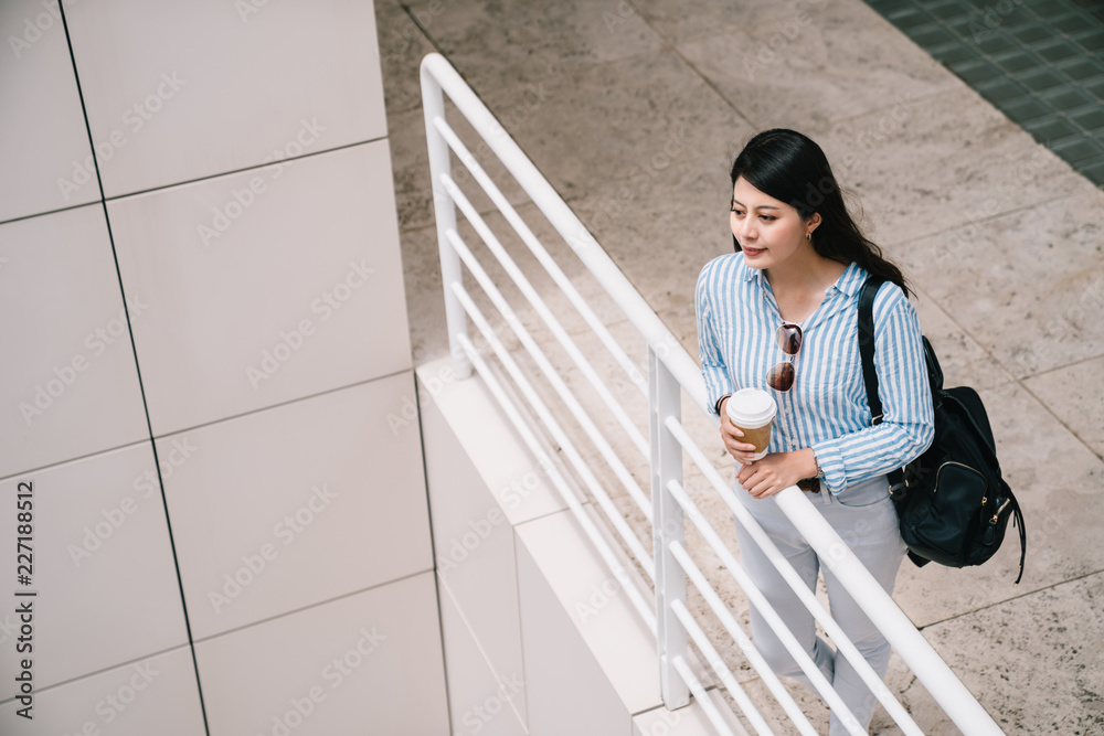
{"type": "Polygon", "coordinates": [[[453,355],[453,373],[457,378],[471,375],[471,361],[460,348],[458,334],[467,335],[468,318],[453,292],[453,284],[463,284],[460,256],[448,243],[447,233],[456,230],[456,204],[442,184],[442,174],[452,174],[448,143],[434,125],[436,118],[445,119],[445,95],[440,85],[426,67],[429,56],[422,60],[422,109],[425,114],[425,141],[429,153],[429,181],[433,191],[433,214],[437,221],[437,249],[440,252],[440,285],[445,289],[445,326],[448,330],[448,349],[453,355]]]}

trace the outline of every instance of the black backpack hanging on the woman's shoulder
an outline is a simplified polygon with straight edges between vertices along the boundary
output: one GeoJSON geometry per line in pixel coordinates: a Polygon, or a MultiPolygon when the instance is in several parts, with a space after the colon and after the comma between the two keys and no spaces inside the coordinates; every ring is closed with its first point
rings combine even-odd
{"type": "MultiPolygon", "coordinates": [[[[882,419],[874,369],[873,305],[883,282],[870,277],[859,295],[859,353],[872,424],[882,419]]],[[[1023,513],[1000,477],[989,417],[973,388],[943,387],[943,369],[927,338],[923,340],[935,409],[935,438],[920,458],[889,473],[909,558],[920,567],[928,562],[949,567],[980,565],[996,554],[1008,520],[1015,519],[1020,532],[1019,584],[1027,555],[1023,513]]]]}

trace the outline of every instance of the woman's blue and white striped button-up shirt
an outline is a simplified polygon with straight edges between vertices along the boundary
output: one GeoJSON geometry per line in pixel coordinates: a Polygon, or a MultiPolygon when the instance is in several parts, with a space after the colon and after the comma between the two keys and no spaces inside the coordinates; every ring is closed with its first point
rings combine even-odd
{"type": "Polygon", "coordinates": [[[711,406],[749,386],[771,393],[778,415],[767,449],[811,447],[832,493],[902,467],[934,436],[920,320],[894,284],[885,284],[874,299],[882,422],[870,424],[858,338],[859,291],[868,276],[849,265],[800,323],[797,380],[785,393],[766,385],[767,371],[787,356],[775,342],[784,320],[765,273],[735,253],[709,262],[698,276],[698,345],[711,406]]]}

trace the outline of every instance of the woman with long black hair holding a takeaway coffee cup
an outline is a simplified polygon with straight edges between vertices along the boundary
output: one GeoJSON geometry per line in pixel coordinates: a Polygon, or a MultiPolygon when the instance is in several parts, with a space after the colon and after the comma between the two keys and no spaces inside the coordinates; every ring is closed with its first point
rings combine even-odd
{"type": "MultiPolygon", "coordinates": [[[[905,546],[885,473],[919,457],[933,437],[932,397],[916,312],[900,269],[859,231],[820,147],[793,130],[755,136],[732,164],[736,253],[698,278],[698,340],[724,446],[740,463],[736,495],[809,588],[821,570],[832,617],[884,678],[889,642],[824,567],[769,497],[797,484],[892,593],[905,546]],[[887,284],[874,300],[874,362],[882,422],[871,425],[858,343],[858,297],[869,276],[887,284]],[[778,405],[768,454],[725,414],[740,388],[778,405]]],[[[743,564],[866,727],[874,700],[854,669],[816,636],[813,616],[736,524],[743,564]]],[[[752,608],[752,633],[781,675],[803,680],[793,658],[752,608]]],[[[846,733],[832,716],[830,734],[846,733]]]]}

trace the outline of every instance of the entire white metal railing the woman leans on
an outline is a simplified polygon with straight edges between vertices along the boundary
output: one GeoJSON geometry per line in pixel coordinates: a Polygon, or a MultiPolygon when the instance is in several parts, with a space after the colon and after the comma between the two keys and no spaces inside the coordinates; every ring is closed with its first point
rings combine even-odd
{"type": "MultiPolygon", "coordinates": [[[[881,678],[867,665],[814,593],[800,580],[767,534],[736,500],[730,483],[722,478],[686,430],[681,422],[683,393],[689,397],[692,407],[704,413],[714,425],[716,424],[716,418],[709,413],[704,383],[694,360],[683,350],[651,307],[625,278],[605,250],[598,246],[586,227],[541,175],[513,139],[439,54],[429,54],[422,61],[422,94],[429,171],[434,191],[434,214],[440,253],[442,281],[445,291],[445,314],[454,372],[458,377],[465,378],[471,374],[471,370],[475,367],[484,378],[527,447],[533,452],[541,466],[548,469],[552,484],[563,497],[584,533],[622,584],[641,620],[656,634],[660,685],[664,703],[667,707],[677,708],[688,704],[690,693],[693,692],[707,717],[718,732],[721,734],[731,733],[724,718],[715,710],[712,702],[704,696],[703,685],[688,664],[688,643],[692,639],[755,733],[773,733],[756,705],[736,682],[729,665],[718,654],[687,608],[686,584],[689,578],[694,587],[701,591],[709,609],[718,617],[722,627],[743,651],[749,663],[762,676],[765,685],[797,729],[806,735],[816,734],[808,718],[771,671],[753,642],[687,553],[683,546],[683,533],[684,519],[689,518],[690,522],[701,532],[705,542],[719,555],[728,572],[745,591],[749,601],[772,626],[779,640],[793,654],[802,670],[848,730],[852,734],[866,733],[793,633],[786,629],[762,593],[752,584],[735,555],[728,550],[710,522],[686,492],[682,480],[684,452],[700,469],[705,480],[729,506],[736,520],[749,531],[754,542],[763,548],[779,574],[794,588],[803,604],[836,643],[840,653],[856,666],[863,682],[896,721],[902,732],[910,735],[923,734],[904,707],[893,697],[881,678]],[[510,204],[448,125],[445,118],[446,93],[490,151],[521,184],[532,202],[541,210],[591,275],[644,338],[648,345],[646,377],[578,294],[540,239],[518,214],[516,207],[510,204]],[[473,206],[460,186],[457,185],[452,175],[452,157],[454,156],[490,198],[490,201],[537,260],[548,270],[559,289],[583,317],[601,343],[609,351],[617,366],[647,397],[649,415],[647,438],[620,406],[603,377],[564,330],[556,316],[511,258],[484,217],[473,206]],[[501,290],[460,236],[456,221],[457,209],[521,291],[533,312],[551,330],[556,342],[594,388],[604,407],[608,409],[609,416],[616,420],[631,445],[646,458],[650,468],[650,499],[640,489],[624,460],[611,447],[586,408],[564,383],[543,349],[514,313],[501,290]],[[541,397],[540,392],[503,345],[476,300],[467,291],[461,267],[466,267],[471,274],[491,305],[499,311],[521,345],[533,359],[555,395],[563,402],[563,407],[578,423],[583,433],[608,463],[618,482],[651,523],[652,553],[650,555],[633,533],[623,514],[575,447],[570,434],[558,422],[554,412],[541,397]],[[469,320],[484,335],[490,352],[498,359],[506,374],[512,381],[512,387],[508,388],[503,385],[499,377],[500,372],[488,365],[480,350],[468,338],[469,320]],[[545,449],[546,441],[534,429],[531,419],[528,419],[514,403],[511,394],[517,395],[519,392],[528,410],[535,415],[537,423],[563,450],[563,456],[570,467],[597,502],[640,569],[654,583],[652,601],[648,601],[646,594],[641,593],[640,588],[633,582],[628,570],[620,562],[618,553],[611,547],[606,536],[598,530],[575,497],[572,482],[560,470],[559,463],[552,461],[545,449]]],[[[859,602],[870,620],[889,639],[951,719],[967,734],[1001,734],[1002,732],[992,718],[970,695],[969,691],[936,654],[904,612],[893,602],[892,598],[800,490],[790,487],[773,498],[816,550],[821,563],[836,575],[848,593],[859,602]]]]}

